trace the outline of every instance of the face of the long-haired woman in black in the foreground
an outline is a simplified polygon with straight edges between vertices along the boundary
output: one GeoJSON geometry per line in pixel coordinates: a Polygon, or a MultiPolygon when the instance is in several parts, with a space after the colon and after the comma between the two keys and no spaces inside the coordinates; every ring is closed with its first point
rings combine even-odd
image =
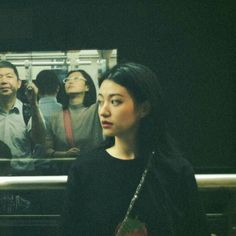
{"type": "Polygon", "coordinates": [[[125,87],[104,80],[99,89],[98,103],[105,136],[128,137],[136,134],[142,115],[125,87]]]}

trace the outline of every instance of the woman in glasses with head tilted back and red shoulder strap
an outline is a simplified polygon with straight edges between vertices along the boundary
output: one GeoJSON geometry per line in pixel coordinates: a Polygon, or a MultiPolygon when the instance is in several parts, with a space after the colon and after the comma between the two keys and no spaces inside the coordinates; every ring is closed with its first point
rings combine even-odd
{"type": "Polygon", "coordinates": [[[103,140],[92,78],[84,70],[76,70],[63,82],[67,95],[63,111],[53,114],[47,130],[50,157],[75,157],[103,140]]]}

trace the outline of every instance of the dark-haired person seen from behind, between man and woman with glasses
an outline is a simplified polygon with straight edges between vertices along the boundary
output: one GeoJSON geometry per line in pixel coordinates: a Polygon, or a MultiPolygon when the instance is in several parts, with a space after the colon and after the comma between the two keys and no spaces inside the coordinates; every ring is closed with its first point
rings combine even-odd
{"type": "Polygon", "coordinates": [[[35,84],[39,90],[39,108],[47,124],[54,112],[62,110],[62,105],[56,98],[60,90],[60,81],[53,70],[42,70],[36,76],[35,84]]]}

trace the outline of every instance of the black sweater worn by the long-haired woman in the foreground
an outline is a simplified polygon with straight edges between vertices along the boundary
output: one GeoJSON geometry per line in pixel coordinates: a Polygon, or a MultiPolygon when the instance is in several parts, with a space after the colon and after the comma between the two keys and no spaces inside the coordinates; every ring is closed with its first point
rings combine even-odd
{"type": "MultiPolygon", "coordinates": [[[[149,236],[209,235],[191,165],[154,158],[131,216],[145,223],[149,236]]],[[[120,160],[102,148],[80,156],[68,176],[64,235],[114,235],[146,160],[120,160]]]]}

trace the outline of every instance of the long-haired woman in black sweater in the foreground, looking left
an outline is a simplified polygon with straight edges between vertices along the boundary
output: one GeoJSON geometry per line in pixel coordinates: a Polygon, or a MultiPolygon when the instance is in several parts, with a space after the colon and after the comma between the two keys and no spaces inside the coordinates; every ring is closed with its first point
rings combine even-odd
{"type": "Polygon", "coordinates": [[[125,63],[99,86],[108,138],[70,170],[65,235],[208,235],[192,168],[167,133],[156,75],[125,63]]]}

